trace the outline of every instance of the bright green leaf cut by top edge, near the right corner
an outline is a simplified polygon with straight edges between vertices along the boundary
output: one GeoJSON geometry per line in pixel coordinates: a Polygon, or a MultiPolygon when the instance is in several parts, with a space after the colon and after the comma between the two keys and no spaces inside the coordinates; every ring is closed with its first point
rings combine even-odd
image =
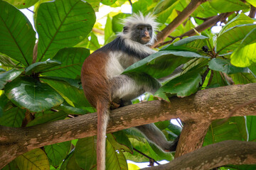
{"type": "Polygon", "coordinates": [[[247,4],[240,0],[210,0],[209,3],[210,6],[213,6],[213,8],[220,13],[240,11],[250,8],[250,6],[247,6],[247,4]]]}

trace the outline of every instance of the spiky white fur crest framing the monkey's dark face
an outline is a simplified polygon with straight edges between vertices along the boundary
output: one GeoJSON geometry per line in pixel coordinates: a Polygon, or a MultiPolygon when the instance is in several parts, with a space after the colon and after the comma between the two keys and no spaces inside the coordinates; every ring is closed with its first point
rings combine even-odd
{"type": "MultiPolygon", "coordinates": [[[[157,30],[157,26],[159,23],[155,21],[155,17],[149,13],[146,16],[143,16],[143,14],[140,12],[138,14],[132,14],[132,16],[129,16],[124,19],[124,27],[127,28],[132,28],[133,26],[136,26],[139,23],[142,24],[149,24],[152,26],[152,38],[151,40],[147,43],[147,45],[152,45],[154,44],[154,41],[156,40],[156,34],[155,31],[157,30]]],[[[123,38],[131,38],[131,31],[128,31],[128,33],[119,33],[123,38]]]]}

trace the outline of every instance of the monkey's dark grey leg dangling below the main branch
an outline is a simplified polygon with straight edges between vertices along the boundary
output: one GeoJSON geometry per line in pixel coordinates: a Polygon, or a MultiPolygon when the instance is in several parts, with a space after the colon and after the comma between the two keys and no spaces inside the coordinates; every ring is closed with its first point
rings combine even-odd
{"type": "Polygon", "coordinates": [[[174,142],[167,141],[163,132],[161,132],[161,130],[159,130],[159,128],[157,128],[156,125],[154,125],[153,123],[148,125],[140,125],[135,128],[143,132],[143,134],[149,140],[151,140],[151,142],[154,142],[164,151],[174,152],[176,150],[176,147],[178,145],[178,137],[176,138],[176,140],[174,140],[174,142]]]}

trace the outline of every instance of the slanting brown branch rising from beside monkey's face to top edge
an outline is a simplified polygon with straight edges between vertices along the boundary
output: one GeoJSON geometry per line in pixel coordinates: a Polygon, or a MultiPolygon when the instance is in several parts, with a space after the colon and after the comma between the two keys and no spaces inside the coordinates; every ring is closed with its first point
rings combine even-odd
{"type": "Polygon", "coordinates": [[[183,23],[183,21],[185,21],[186,18],[188,18],[188,16],[190,16],[191,13],[196,10],[198,6],[206,1],[207,0],[192,0],[191,3],[189,3],[188,6],[186,6],[186,8],[184,8],[184,10],[178,14],[174,21],[172,21],[168,26],[166,26],[166,28],[164,28],[164,30],[161,30],[161,32],[157,34],[157,41],[154,43],[154,45],[152,45],[152,47],[156,47],[159,45],[159,43],[163,42],[168,35],[175,30],[175,28],[183,23]]]}

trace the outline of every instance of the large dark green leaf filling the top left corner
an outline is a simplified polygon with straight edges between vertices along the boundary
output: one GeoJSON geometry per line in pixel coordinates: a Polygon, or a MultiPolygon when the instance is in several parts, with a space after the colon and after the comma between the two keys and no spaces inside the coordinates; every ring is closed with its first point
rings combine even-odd
{"type": "Polygon", "coordinates": [[[28,66],[33,59],[36,33],[26,16],[0,1],[0,52],[28,66]]]}

